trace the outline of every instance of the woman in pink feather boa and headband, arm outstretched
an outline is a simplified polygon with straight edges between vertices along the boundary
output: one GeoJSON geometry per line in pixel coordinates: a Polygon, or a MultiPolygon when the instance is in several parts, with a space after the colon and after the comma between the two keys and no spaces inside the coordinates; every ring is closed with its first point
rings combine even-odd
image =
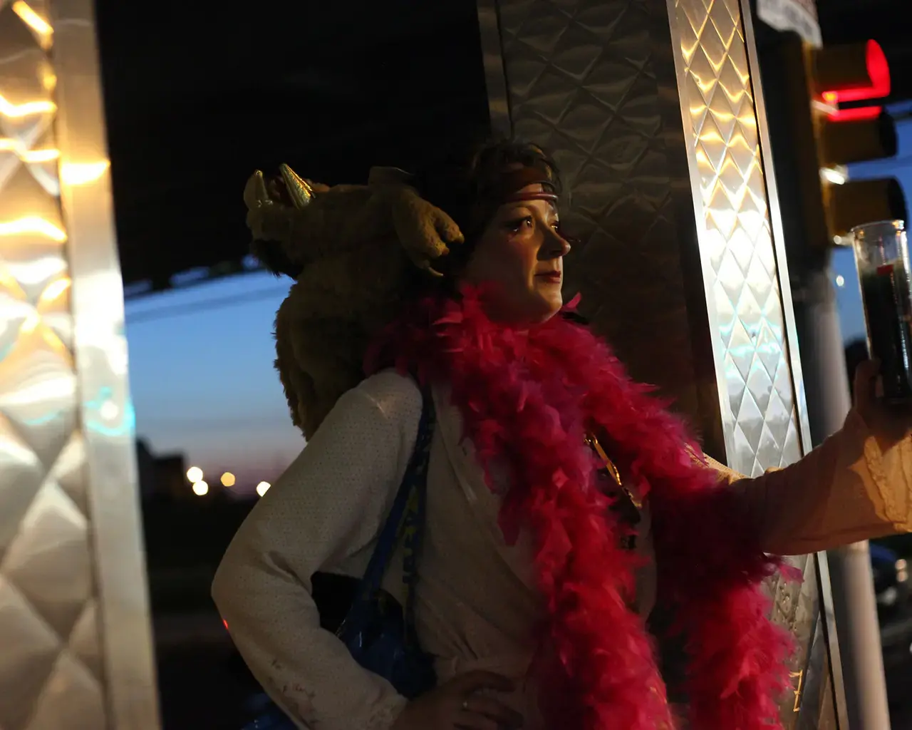
{"type": "MultiPolygon", "coordinates": [[[[539,148],[489,144],[413,184],[465,243],[409,290],[368,378],[229,547],[213,595],[244,659],[320,730],[656,730],[683,726],[657,660],[669,632],[648,630],[658,604],[685,641],[690,726],[770,727],[790,644],[765,619],[759,584],[778,565],[765,553],[909,524],[908,421],[873,397],[876,368],[860,369],[842,431],[798,464],[739,477],[561,315],[571,246],[539,148]],[[437,426],[416,624],[439,683],[409,702],[319,628],[311,577],[363,572],[423,385],[437,426]]],[[[384,587],[401,598],[391,568],[384,587]]]]}

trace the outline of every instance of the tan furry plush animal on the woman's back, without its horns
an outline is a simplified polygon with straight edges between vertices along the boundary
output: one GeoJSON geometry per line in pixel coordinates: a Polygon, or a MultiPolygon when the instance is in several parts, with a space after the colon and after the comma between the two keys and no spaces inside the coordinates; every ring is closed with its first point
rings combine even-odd
{"type": "Polygon", "coordinates": [[[362,379],[368,343],[399,310],[414,267],[430,270],[462,243],[450,216],[399,171],[375,169],[368,185],[311,186],[300,209],[244,196],[254,238],[301,267],[276,314],[275,367],[306,438],[362,379]]]}

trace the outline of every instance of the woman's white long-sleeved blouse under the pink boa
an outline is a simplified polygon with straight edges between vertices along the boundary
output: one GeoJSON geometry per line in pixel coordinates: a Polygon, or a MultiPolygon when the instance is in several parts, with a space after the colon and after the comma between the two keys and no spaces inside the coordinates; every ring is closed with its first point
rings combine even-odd
{"type": "MultiPolygon", "coordinates": [[[[471,444],[461,440],[461,416],[445,392],[435,391],[434,401],[416,591],[420,642],[436,658],[441,682],[474,669],[515,680],[519,690],[505,701],[523,714],[525,730],[540,730],[534,687],[525,684],[533,650],[528,636],[542,610],[530,544],[525,536],[505,544],[500,499],[485,485],[471,444]]],[[[363,574],[405,474],[421,406],[415,383],[392,371],[343,395],[244,521],[216,574],[212,595],[233,641],[299,727],[388,730],[406,704],[320,628],[311,576],[363,574]]],[[[855,413],[823,446],[779,472],[746,479],[713,467],[743,495],[770,552],[812,552],[912,522],[909,439],[881,454],[855,413]]],[[[648,531],[637,545],[650,550],[648,531]]],[[[399,552],[383,583],[399,600],[401,565],[399,552]]],[[[645,615],[654,595],[652,569],[638,578],[645,615]]]]}

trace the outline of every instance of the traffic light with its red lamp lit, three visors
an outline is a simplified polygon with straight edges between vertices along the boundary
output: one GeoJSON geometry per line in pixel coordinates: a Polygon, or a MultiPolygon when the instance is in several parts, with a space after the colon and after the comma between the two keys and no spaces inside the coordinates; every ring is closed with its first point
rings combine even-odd
{"type": "Polygon", "coordinates": [[[803,60],[830,240],[842,242],[858,224],[905,219],[906,199],[895,178],[856,181],[846,170],[896,154],[896,126],[883,109],[890,94],[884,51],[874,40],[803,47],[803,60]]]}

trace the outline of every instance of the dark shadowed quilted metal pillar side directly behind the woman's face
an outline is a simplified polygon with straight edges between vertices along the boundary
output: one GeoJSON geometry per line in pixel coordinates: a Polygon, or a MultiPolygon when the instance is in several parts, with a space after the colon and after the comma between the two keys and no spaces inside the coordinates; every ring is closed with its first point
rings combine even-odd
{"type": "MultiPolygon", "coordinates": [[[[677,99],[673,72],[664,88],[657,77],[669,51],[656,39],[662,26],[668,38],[664,5],[502,0],[498,10],[513,133],[554,152],[572,194],[563,213],[580,245],[568,287],[633,374],[700,421],[697,390],[714,376],[691,353],[659,110],[660,95],[677,99]]],[[[492,110],[505,106],[492,99],[492,110]]]]}

